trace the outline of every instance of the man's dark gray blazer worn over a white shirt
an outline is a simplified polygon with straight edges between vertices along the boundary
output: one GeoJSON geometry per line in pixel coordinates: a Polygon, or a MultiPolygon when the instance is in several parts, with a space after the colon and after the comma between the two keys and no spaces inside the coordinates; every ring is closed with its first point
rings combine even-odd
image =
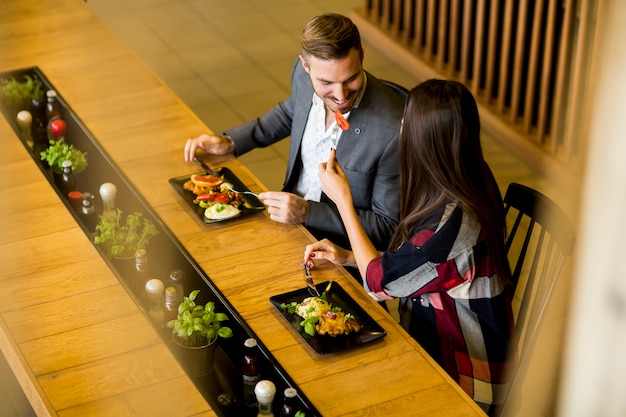
{"type": "MultiPolygon", "coordinates": [[[[293,192],[300,175],[300,145],[306,126],[313,87],[298,59],[291,76],[291,95],[264,116],[225,132],[235,142],[236,155],[269,146],[291,136],[283,191],[293,192]]],[[[398,134],[404,103],[387,86],[367,73],[367,87],[358,108],[350,113],[350,129],[341,134],[337,160],[350,181],[361,224],[377,249],[387,248],[399,220],[400,181],[398,134]]],[[[305,226],[319,239],[328,237],[349,247],[341,217],[333,202],[322,194],[309,201],[305,226]]]]}

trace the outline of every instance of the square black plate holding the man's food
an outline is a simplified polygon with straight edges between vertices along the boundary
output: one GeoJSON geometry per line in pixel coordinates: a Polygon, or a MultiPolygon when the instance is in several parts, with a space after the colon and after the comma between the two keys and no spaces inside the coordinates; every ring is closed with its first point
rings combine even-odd
{"type": "MultiPolygon", "coordinates": [[[[231,183],[235,190],[250,191],[248,187],[246,187],[241,181],[239,181],[239,178],[237,178],[237,176],[233,174],[230,169],[222,167],[216,168],[215,171],[217,171],[217,173],[224,178],[224,181],[231,183]]],[[[265,210],[265,204],[263,204],[261,200],[253,195],[242,194],[241,199],[243,200],[244,204],[239,208],[241,210],[241,213],[239,213],[237,216],[229,217],[227,219],[207,219],[206,217],[204,217],[204,209],[193,202],[193,200],[195,200],[196,198],[195,194],[183,188],[183,184],[189,181],[189,178],[192,175],[206,175],[206,172],[200,171],[194,172],[193,174],[189,175],[183,175],[182,177],[170,178],[169,183],[172,187],[174,187],[174,190],[183,198],[187,207],[189,207],[191,211],[195,213],[203,223],[218,223],[227,220],[238,219],[240,217],[265,210]]]]}

